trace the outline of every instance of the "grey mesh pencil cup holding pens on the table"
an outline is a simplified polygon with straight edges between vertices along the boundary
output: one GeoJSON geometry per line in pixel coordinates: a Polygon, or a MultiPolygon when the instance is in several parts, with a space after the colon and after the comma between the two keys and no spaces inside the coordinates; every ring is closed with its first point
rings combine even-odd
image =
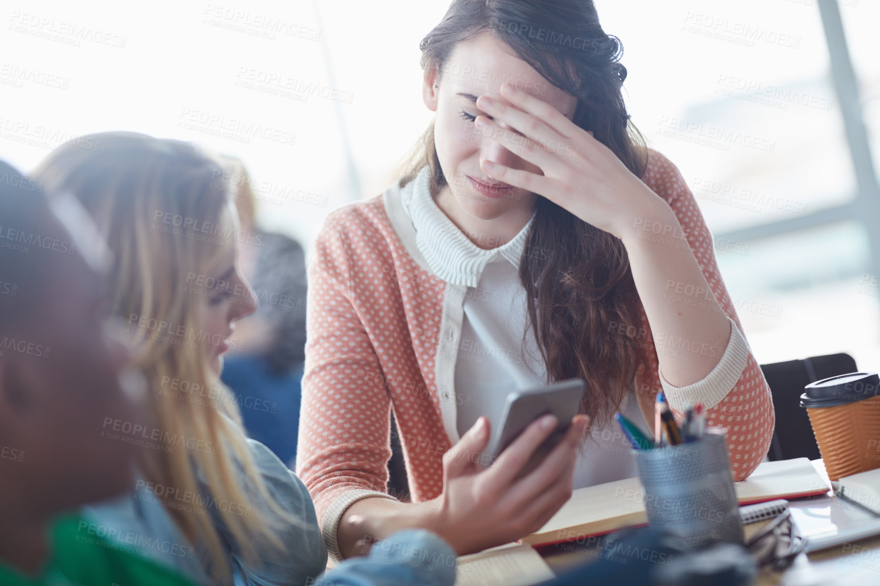
{"type": "Polygon", "coordinates": [[[634,453],[649,524],[675,533],[691,547],[743,543],[721,430],[707,429],[695,442],[634,453]]]}

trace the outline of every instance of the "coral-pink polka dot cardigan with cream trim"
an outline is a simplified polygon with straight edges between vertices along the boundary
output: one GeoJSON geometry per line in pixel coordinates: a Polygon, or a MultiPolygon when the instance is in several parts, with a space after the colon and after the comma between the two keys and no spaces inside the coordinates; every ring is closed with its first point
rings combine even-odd
{"type": "MultiPolygon", "coordinates": [[[[715,263],[713,238],[685,179],[651,150],[642,180],[678,216],[736,329],[718,367],[700,383],[678,389],[660,376],[642,312],[647,335],[640,339],[649,347],[649,368],[635,380],[639,406],[646,421],[653,421],[661,389],[673,409],[701,399],[708,423],[728,429],[730,463],[741,480],[768,450],[774,429],[770,390],[744,341],[715,263]]],[[[414,502],[441,494],[443,454],[458,441],[461,398],[452,374],[465,290],[434,274],[419,252],[401,205],[414,183],[332,212],[309,266],[297,475],[312,494],[328,549],[337,558],[336,527],[345,509],[366,497],[393,498],[386,492],[392,409],[414,502]]]]}

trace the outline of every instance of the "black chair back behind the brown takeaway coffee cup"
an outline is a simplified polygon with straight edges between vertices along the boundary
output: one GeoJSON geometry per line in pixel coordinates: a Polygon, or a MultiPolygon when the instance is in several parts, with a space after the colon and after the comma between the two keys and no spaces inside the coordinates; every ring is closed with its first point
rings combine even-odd
{"type": "Polygon", "coordinates": [[[855,361],[848,354],[813,356],[785,363],[761,364],[773,394],[776,429],[767,458],[822,458],[807,410],[801,407],[803,387],[823,378],[855,372],[855,361]]]}

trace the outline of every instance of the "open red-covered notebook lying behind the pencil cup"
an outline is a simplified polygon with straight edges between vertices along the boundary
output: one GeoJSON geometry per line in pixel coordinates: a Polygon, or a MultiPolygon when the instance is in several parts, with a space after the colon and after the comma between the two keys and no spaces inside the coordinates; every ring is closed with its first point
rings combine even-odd
{"type": "MultiPolygon", "coordinates": [[[[825,494],[828,485],[808,458],[762,462],[752,475],[735,482],[741,505],[825,494]]],[[[546,546],[648,524],[638,478],[576,489],[539,531],[520,539],[546,546]]]]}

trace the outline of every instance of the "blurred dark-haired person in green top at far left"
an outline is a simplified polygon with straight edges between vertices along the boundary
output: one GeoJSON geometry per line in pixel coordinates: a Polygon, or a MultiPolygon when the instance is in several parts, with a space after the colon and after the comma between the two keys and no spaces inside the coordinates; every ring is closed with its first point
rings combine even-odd
{"type": "Polygon", "coordinates": [[[149,424],[103,311],[108,251],[77,206],[0,162],[0,584],[185,586],[76,512],[131,486],[136,447],[113,422],[149,424]]]}

